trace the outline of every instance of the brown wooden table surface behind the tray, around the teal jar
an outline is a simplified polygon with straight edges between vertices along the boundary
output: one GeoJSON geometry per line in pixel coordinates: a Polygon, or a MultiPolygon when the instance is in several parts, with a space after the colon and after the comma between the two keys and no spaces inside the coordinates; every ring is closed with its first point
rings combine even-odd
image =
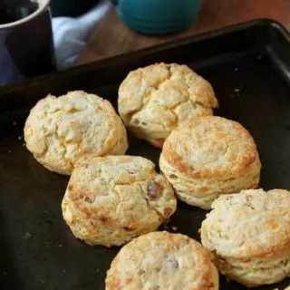
{"type": "Polygon", "coordinates": [[[144,36],[131,31],[117,18],[111,5],[108,14],[93,30],[76,64],[90,63],[115,54],[261,17],[275,19],[290,27],[290,0],[203,0],[198,18],[189,29],[160,37],[144,36]]]}

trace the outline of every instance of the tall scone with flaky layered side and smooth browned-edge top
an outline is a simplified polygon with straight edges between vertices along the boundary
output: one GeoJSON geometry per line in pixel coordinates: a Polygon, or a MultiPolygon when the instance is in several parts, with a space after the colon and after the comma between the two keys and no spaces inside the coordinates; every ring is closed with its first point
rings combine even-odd
{"type": "Polygon", "coordinates": [[[255,141],[241,124],[206,116],[171,132],[160,169],[179,199],[209,209],[221,194],[255,189],[261,163],[255,141]]]}

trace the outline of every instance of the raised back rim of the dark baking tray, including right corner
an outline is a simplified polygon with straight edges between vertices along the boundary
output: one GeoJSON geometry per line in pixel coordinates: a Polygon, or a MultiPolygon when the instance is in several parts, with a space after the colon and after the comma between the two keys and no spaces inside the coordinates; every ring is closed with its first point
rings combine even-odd
{"type": "Polygon", "coordinates": [[[160,50],[165,51],[165,50],[168,50],[170,48],[174,48],[180,45],[185,45],[189,43],[198,43],[204,40],[208,40],[210,38],[219,37],[221,35],[232,34],[238,31],[247,30],[255,26],[265,26],[268,28],[271,28],[271,27],[275,28],[275,30],[279,31],[279,33],[284,36],[285,40],[287,41],[287,43],[289,43],[289,46],[290,46],[290,31],[285,27],[284,24],[271,18],[256,18],[256,19],[249,20],[246,22],[227,25],[227,26],[210,30],[207,32],[189,35],[186,37],[181,37],[177,40],[169,41],[168,43],[160,43],[160,44],[152,45],[150,47],[136,49],[131,52],[105,57],[101,60],[92,61],[91,63],[83,63],[81,65],[73,66],[72,68],[68,70],[56,71],[54,73],[47,73],[44,75],[36,76],[31,79],[27,79],[24,82],[6,84],[4,86],[0,86],[0,98],[1,98],[1,94],[5,94],[6,92],[17,91],[18,89],[24,88],[27,85],[33,84],[34,82],[43,82],[44,80],[47,80],[47,79],[52,79],[55,77],[62,77],[68,73],[76,73],[76,72],[82,73],[82,72],[90,71],[92,70],[92,68],[94,69],[98,67],[101,68],[102,66],[108,65],[109,63],[117,62],[121,60],[122,58],[129,58],[129,57],[136,56],[138,54],[155,53],[160,50]]]}

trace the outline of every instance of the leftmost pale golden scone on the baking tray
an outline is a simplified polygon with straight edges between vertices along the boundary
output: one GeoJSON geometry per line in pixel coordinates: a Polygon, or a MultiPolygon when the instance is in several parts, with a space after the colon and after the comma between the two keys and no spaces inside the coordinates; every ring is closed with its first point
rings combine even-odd
{"type": "Polygon", "coordinates": [[[24,127],[26,147],[46,169],[71,174],[86,154],[122,155],[127,133],[111,103],[82,91],[36,103],[24,127]]]}

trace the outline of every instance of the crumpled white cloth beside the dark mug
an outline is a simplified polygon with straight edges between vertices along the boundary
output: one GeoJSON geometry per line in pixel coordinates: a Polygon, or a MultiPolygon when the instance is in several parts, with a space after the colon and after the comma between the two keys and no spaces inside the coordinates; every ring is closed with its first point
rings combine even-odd
{"type": "Polygon", "coordinates": [[[53,18],[53,41],[56,64],[59,70],[73,66],[85,46],[92,28],[106,14],[109,6],[109,0],[103,0],[87,14],[80,17],[53,18]]]}

